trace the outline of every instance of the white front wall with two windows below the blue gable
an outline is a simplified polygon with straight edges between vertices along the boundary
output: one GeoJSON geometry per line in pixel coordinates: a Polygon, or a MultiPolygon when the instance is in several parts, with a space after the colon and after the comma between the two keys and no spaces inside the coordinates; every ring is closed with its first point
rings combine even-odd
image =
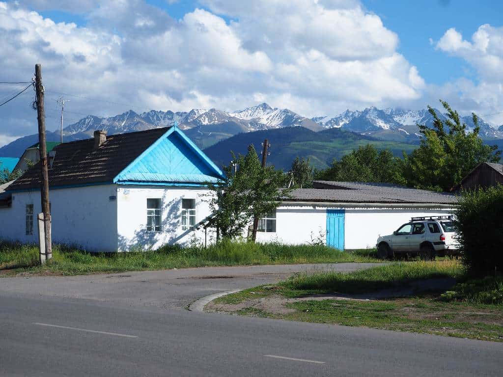
{"type": "MultiPolygon", "coordinates": [[[[196,200],[196,224],[210,215],[210,191],[200,187],[121,185],[117,190],[119,251],[158,248],[164,244],[204,243],[204,229],[182,230],[182,199],[196,200]],[[162,199],[162,231],[147,232],[147,199],[162,199]]],[[[208,243],[214,232],[208,229],[208,243]]]]}

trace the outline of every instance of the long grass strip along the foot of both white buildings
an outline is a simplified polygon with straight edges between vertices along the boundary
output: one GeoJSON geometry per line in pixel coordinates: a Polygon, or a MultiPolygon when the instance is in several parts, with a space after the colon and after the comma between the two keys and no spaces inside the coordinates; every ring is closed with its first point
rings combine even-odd
{"type": "Polygon", "coordinates": [[[206,249],[199,246],[183,248],[173,245],[155,251],[127,253],[87,253],[55,245],[52,260],[40,266],[38,248],[35,245],[0,242],[0,273],[3,275],[25,271],[82,274],[203,266],[369,261],[378,261],[373,251],[348,253],[323,245],[221,242],[206,249]]]}

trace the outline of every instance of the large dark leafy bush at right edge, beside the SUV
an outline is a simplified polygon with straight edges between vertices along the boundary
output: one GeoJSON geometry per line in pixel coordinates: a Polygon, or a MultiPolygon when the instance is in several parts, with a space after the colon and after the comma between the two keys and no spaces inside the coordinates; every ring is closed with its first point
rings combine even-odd
{"type": "Polygon", "coordinates": [[[456,211],[463,263],[475,276],[503,271],[503,185],[463,193],[456,211]]]}

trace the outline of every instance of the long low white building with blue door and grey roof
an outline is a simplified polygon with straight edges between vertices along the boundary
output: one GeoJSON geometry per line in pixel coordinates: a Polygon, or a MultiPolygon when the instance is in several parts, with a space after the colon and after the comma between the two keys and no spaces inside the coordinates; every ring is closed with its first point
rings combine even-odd
{"type": "Polygon", "coordinates": [[[314,181],[260,221],[260,242],[320,241],[338,249],[375,247],[411,217],[450,215],[456,197],[384,183],[314,181]]]}

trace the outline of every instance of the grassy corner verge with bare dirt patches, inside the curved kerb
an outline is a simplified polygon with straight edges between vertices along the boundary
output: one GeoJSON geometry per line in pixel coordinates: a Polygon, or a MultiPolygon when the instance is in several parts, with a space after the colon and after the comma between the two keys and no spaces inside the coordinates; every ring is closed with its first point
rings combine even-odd
{"type": "Polygon", "coordinates": [[[300,274],[274,286],[221,297],[209,311],[283,320],[365,326],[503,341],[503,277],[467,280],[455,261],[393,263],[349,273],[300,274]],[[410,297],[365,299],[380,289],[421,286],[455,278],[449,291],[418,290],[410,297]],[[342,299],[340,296],[348,294],[342,299]],[[329,296],[328,296],[329,295],[329,296]]]}

